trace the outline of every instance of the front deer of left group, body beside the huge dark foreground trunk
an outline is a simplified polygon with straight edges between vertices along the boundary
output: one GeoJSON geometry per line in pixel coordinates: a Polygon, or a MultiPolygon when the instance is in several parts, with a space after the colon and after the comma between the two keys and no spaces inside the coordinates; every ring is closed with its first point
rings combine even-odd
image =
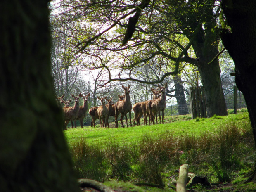
{"type": "Polygon", "coordinates": [[[63,107],[64,112],[64,130],[66,130],[66,126],[71,121],[71,125],[73,128],[73,122],[75,121],[75,128],[76,128],[76,118],[78,117],[78,111],[79,111],[79,98],[81,96],[81,93],[75,97],[73,94],[71,95],[75,99],[75,105],[73,107],[63,107]]]}

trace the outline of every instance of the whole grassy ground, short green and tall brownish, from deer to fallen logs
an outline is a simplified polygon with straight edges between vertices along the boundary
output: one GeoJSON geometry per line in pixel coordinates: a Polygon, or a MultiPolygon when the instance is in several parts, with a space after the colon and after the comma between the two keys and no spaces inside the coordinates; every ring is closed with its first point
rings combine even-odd
{"type": "Polygon", "coordinates": [[[189,115],[167,116],[164,121],[168,123],[66,130],[78,177],[175,190],[168,178],[177,179],[175,169],[184,163],[196,175],[207,174],[210,183],[238,185],[251,169],[255,150],[247,112],[193,120],[189,115]]]}

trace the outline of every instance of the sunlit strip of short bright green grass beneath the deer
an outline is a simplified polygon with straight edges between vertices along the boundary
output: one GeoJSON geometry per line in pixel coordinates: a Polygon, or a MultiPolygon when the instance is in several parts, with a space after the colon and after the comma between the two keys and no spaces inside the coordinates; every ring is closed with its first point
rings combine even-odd
{"type": "MultiPolygon", "coordinates": [[[[247,117],[247,113],[240,113],[238,115],[230,114],[228,116],[214,116],[207,119],[193,120],[191,120],[190,115],[166,116],[164,117],[164,124],[155,124],[151,126],[135,125],[135,127],[114,128],[114,123],[110,123],[110,128],[100,128],[99,126],[95,128],[90,126],[84,128],[78,127],[76,129],[69,128],[65,131],[65,135],[67,142],[69,143],[72,143],[72,141],[76,140],[77,138],[85,138],[89,144],[93,145],[102,145],[102,142],[104,143],[104,141],[109,139],[126,143],[135,142],[145,134],[161,135],[161,133],[166,131],[172,132],[173,136],[177,137],[190,133],[213,133],[219,128],[220,123],[224,123],[228,119],[235,119],[239,121],[247,117]]],[[[143,124],[142,120],[141,124],[143,124]]]]}

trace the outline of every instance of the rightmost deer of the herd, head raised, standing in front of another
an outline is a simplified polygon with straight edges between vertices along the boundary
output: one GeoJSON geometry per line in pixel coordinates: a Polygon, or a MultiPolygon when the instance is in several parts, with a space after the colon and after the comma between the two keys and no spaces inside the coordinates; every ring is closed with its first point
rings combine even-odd
{"type": "MultiPolygon", "coordinates": [[[[152,123],[155,124],[155,115],[159,112],[159,121],[161,124],[161,115],[160,112],[162,111],[162,123],[164,124],[164,110],[166,108],[166,93],[165,89],[167,87],[167,83],[162,87],[161,85],[157,84],[161,91],[161,97],[156,100],[149,100],[147,103],[147,107],[149,109],[149,116],[152,118],[152,123]]],[[[149,118],[150,118],[149,117],[149,118]]],[[[157,116],[156,116],[156,124],[157,124],[157,116]]]]}

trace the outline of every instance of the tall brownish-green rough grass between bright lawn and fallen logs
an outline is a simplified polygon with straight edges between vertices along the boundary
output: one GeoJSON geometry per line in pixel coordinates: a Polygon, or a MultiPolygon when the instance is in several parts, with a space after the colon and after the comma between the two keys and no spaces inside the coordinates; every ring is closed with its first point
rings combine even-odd
{"type": "Polygon", "coordinates": [[[78,137],[69,144],[78,178],[159,186],[166,186],[171,176],[177,178],[175,169],[184,163],[196,175],[208,174],[211,183],[230,182],[239,171],[251,169],[255,155],[248,118],[223,121],[214,132],[206,129],[177,136],[165,130],[158,135],[145,133],[134,142],[111,138],[101,141],[101,145],[89,145],[85,138],[78,137]]]}

